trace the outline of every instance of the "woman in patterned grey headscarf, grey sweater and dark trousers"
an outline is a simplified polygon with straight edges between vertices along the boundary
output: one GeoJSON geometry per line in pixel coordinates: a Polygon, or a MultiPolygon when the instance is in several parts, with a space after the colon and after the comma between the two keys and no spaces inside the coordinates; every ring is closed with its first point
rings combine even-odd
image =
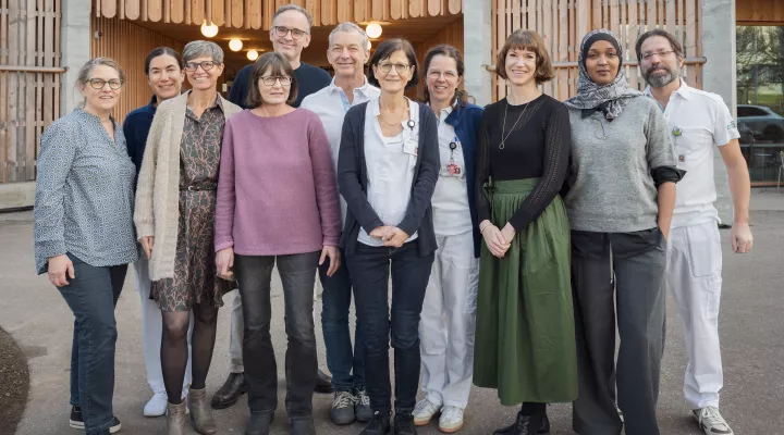
{"type": "Polygon", "coordinates": [[[682,175],[661,110],[629,88],[622,63],[615,35],[586,35],[577,96],[566,101],[573,161],[565,203],[579,377],[573,410],[581,435],[620,435],[616,405],[627,434],[659,434],[665,246],[682,175]]]}

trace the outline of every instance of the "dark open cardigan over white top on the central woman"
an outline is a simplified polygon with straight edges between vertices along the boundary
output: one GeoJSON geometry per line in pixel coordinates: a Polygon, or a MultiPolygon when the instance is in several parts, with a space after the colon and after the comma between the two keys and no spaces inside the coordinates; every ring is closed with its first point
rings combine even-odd
{"type": "MultiPolygon", "coordinates": [[[[365,112],[367,102],[348,110],[343,121],[343,133],[338,158],[338,187],[348,210],[341,237],[341,248],[347,256],[354,253],[359,228],[370,233],[384,223],[367,199],[367,164],[365,162],[365,112]]],[[[414,167],[411,199],[403,221],[395,226],[408,235],[417,233],[420,257],[436,251],[438,245],[432,223],[430,198],[436,190],[439,172],[438,119],[429,107],[419,104],[419,149],[414,167]]],[[[392,224],[392,223],[390,223],[392,224]]]]}

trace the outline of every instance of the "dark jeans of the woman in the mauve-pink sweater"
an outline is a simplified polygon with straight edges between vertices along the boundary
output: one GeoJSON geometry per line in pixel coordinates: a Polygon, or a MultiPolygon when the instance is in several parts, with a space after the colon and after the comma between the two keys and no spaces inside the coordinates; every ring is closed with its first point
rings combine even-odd
{"type": "Polygon", "coordinates": [[[283,283],[285,332],[289,337],[285,355],[286,411],[290,419],[309,419],[313,415],[313,393],[318,370],[313,295],[320,253],[234,258],[245,318],[243,363],[250,412],[274,412],[278,407],[278,365],[270,339],[270,281],[277,261],[283,283]]]}

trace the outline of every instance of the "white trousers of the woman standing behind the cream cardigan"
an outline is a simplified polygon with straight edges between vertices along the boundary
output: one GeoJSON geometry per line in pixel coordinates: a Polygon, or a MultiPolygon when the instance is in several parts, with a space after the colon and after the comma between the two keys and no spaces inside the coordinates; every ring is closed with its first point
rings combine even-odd
{"type": "MultiPolygon", "coordinates": [[[[142,253],[144,256],[144,253],[142,253]]],[[[151,283],[149,279],[149,261],[139,257],[134,263],[136,272],[136,291],[142,298],[142,335],[144,340],[145,368],[147,369],[147,382],[152,393],[166,396],[163,386],[163,373],[160,362],[160,341],[163,333],[163,321],[161,311],[155,300],[149,298],[151,283]]],[[[187,395],[191,385],[191,334],[193,333],[193,315],[188,328],[188,362],[185,368],[185,380],[183,382],[183,397],[187,395]]]]}

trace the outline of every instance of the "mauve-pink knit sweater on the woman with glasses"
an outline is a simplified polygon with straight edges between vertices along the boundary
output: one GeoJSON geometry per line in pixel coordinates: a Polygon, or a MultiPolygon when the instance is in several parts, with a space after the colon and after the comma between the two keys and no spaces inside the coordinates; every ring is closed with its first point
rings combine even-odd
{"type": "Polygon", "coordinates": [[[339,246],[341,212],[329,141],[304,109],[260,117],[245,110],[225,124],[216,251],[283,256],[339,246]]]}

